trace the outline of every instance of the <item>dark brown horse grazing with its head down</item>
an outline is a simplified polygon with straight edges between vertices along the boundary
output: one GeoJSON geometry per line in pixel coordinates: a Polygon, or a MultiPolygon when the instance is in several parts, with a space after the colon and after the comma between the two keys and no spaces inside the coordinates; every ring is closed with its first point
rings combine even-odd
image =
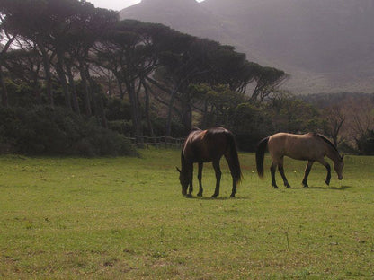
{"type": "Polygon", "coordinates": [[[208,130],[201,130],[200,128],[192,129],[191,133],[184,141],[182,148],[182,170],[177,168],[180,173],[179,180],[182,185],[183,196],[192,197],[193,163],[198,162],[198,197],[202,197],[202,165],[203,162],[213,162],[213,168],[216,172],[216,189],[212,197],[218,197],[221,179],[219,161],[222,155],[224,155],[227,160],[233,178],[233,188],[230,197],[235,197],[236,184],[242,179],[242,171],[240,170],[239,158],[236,151],[236,140],[233,134],[223,127],[212,127],[208,130]],[[187,194],[188,186],[190,186],[190,188],[187,194]]]}

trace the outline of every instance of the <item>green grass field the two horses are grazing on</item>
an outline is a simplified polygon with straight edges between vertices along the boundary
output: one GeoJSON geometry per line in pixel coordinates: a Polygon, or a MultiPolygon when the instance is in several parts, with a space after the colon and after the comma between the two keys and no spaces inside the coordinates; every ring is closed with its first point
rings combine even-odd
{"type": "MultiPolygon", "coordinates": [[[[344,179],[285,160],[292,188],[270,187],[240,153],[218,199],[181,195],[177,150],[140,158],[0,157],[1,279],[373,279],[374,157],[346,156],[344,179]]],[[[195,172],[196,173],[196,172],[195,172]]],[[[197,179],[195,179],[197,187],[197,179]]],[[[196,188],[194,195],[196,194],[196,188]]]]}

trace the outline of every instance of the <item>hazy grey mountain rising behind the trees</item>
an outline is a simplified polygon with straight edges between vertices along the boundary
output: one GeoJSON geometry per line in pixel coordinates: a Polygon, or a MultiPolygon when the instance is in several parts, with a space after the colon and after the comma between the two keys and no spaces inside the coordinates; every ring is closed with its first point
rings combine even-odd
{"type": "Polygon", "coordinates": [[[120,17],[233,45],[293,92],[374,92],[374,0],[143,0],[120,17]]]}

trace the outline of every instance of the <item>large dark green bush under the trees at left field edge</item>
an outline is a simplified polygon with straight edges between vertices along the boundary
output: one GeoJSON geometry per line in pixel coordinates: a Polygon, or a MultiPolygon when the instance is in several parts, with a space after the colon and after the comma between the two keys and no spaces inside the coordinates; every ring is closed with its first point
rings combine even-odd
{"type": "Polygon", "coordinates": [[[0,109],[0,152],[48,155],[135,155],[124,137],[61,108],[0,109]]]}

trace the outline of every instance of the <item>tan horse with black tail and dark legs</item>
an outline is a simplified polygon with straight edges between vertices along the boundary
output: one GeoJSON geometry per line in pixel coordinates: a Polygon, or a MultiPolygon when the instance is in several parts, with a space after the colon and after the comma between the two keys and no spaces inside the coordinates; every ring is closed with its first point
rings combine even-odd
{"type": "Polygon", "coordinates": [[[338,179],[343,179],[343,157],[340,155],[334,144],[332,144],[325,136],[316,133],[307,133],[305,135],[293,135],[289,133],[277,133],[275,135],[263,138],[257,146],[256,151],[256,166],[257,172],[261,179],[263,179],[263,158],[268,147],[269,153],[272,156],[272,166],[270,168],[272,173],[272,187],[278,188],[275,182],[275,170],[278,166],[280,176],[283,179],[284,186],[290,188],[289,182],[284,175],[283,157],[289,156],[292,159],[307,161],[307,167],[304,173],[302,184],[307,188],[307,176],[314,162],[319,162],[325,166],[327,170],[327,177],[325,183],[330,184],[331,167],[325,162],[324,157],[327,156],[334,162],[334,170],[338,175],[338,179]]]}

